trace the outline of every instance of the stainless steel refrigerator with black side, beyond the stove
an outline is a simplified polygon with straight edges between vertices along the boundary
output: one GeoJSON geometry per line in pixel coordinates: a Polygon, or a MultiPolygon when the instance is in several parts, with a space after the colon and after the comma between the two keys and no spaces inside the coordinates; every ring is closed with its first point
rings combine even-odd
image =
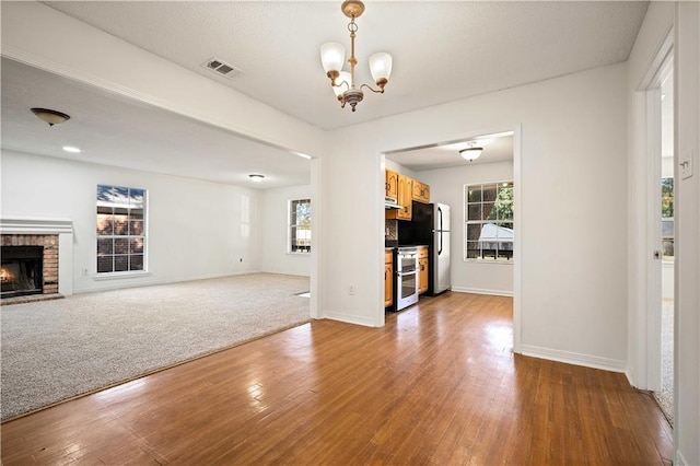
{"type": "Polygon", "coordinates": [[[450,206],[413,201],[412,220],[398,222],[399,245],[428,245],[430,258],[429,293],[452,287],[450,278],[450,206]]]}

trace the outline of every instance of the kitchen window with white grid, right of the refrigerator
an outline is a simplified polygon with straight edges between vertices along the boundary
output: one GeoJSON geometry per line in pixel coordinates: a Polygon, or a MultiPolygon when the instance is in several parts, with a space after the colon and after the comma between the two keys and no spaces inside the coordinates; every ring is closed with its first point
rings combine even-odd
{"type": "Polygon", "coordinates": [[[465,260],[513,258],[513,183],[465,185],[465,260]]]}

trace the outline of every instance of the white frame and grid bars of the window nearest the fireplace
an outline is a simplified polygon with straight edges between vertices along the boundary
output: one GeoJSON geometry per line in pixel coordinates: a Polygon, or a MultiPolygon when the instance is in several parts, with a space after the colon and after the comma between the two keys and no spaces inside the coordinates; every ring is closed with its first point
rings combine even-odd
{"type": "MultiPolygon", "coordinates": [[[[113,231],[112,234],[100,234],[98,233],[98,225],[96,225],[95,228],[95,279],[104,279],[104,278],[120,278],[120,277],[132,277],[132,276],[139,276],[139,275],[148,275],[148,213],[149,213],[149,207],[148,207],[148,189],[145,188],[135,188],[135,187],[127,187],[127,186],[116,186],[116,185],[97,185],[97,193],[96,193],[96,199],[95,199],[95,221],[96,223],[100,222],[100,208],[103,207],[112,207],[113,209],[116,208],[120,208],[120,209],[127,209],[127,234],[115,234],[115,232],[113,231]],[[141,203],[141,209],[143,210],[143,214],[141,219],[138,218],[131,218],[131,209],[132,206],[130,206],[129,203],[127,205],[119,205],[118,202],[115,203],[113,202],[105,202],[105,201],[101,201],[98,196],[100,196],[100,190],[101,188],[109,188],[109,189],[126,189],[127,193],[130,193],[131,190],[139,190],[139,191],[143,191],[143,200],[141,203]],[[131,234],[131,229],[132,229],[132,223],[131,222],[137,222],[140,221],[141,222],[141,233],[140,234],[131,234]],[[113,258],[113,267],[110,271],[100,271],[100,257],[105,257],[105,256],[101,256],[100,253],[100,240],[106,240],[106,238],[110,238],[113,241],[113,251],[112,254],[109,254],[108,256],[112,256],[113,258]],[[116,254],[115,251],[115,246],[116,246],[116,240],[127,240],[128,242],[128,249],[126,254],[121,254],[119,256],[126,256],[127,257],[127,270],[119,270],[119,271],[115,271],[115,260],[116,257],[118,256],[118,254],[116,254]],[[141,245],[141,253],[132,253],[131,252],[131,246],[132,246],[132,241],[138,241],[141,240],[142,241],[142,245],[141,245]],[[140,269],[133,269],[131,270],[131,258],[132,257],[137,257],[137,256],[141,256],[141,260],[142,260],[142,265],[140,269]]],[[[130,197],[130,196],[127,196],[130,197]]]]}

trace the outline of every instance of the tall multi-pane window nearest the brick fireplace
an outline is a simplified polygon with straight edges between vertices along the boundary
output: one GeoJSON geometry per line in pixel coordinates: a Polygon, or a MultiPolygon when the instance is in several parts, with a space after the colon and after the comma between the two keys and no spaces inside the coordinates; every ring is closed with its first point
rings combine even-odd
{"type": "Polygon", "coordinates": [[[97,273],[144,270],[145,189],[97,185],[97,273]]]}

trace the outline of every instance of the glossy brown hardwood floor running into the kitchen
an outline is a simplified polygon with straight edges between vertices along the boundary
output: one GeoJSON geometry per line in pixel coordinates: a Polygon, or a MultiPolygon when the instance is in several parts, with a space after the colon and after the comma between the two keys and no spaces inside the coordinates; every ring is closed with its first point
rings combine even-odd
{"type": "Polygon", "coordinates": [[[512,300],[306,324],[2,424],[15,464],[670,464],[625,375],[512,353],[512,300]]]}

